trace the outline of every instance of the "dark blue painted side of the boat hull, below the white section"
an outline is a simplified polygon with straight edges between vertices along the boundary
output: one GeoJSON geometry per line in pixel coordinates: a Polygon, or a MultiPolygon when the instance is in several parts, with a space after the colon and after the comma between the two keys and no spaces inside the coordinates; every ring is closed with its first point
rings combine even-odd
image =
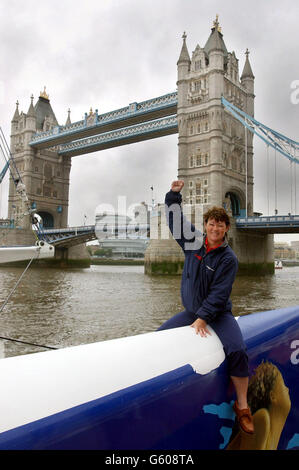
{"type": "MultiPolygon", "coordinates": [[[[299,449],[299,307],[238,321],[251,375],[268,361],[289,389],[290,410],[277,448],[299,449]]],[[[234,400],[225,361],[205,375],[186,364],[2,432],[0,449],[226,449],[238,434],[234,400]]]]}

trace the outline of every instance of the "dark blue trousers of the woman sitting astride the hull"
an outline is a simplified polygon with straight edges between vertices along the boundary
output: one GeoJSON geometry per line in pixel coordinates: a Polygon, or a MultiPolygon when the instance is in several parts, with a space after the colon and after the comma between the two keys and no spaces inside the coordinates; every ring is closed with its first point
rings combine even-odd
{"type": "MultiPolygon", "coordinates": [[[[188,326],[195,322],[197,318],[198,317],[195,313],[184,310],[163,323],[157,331],[188,326]]],[[[248,377],[249,371],[246,345],[243,341],[238,322],[235,320],[232,313],[225,312],[219,315],[209,325],[213,328],[222,342],[228,363],[229,375],[235,377],[248,377]]]]}

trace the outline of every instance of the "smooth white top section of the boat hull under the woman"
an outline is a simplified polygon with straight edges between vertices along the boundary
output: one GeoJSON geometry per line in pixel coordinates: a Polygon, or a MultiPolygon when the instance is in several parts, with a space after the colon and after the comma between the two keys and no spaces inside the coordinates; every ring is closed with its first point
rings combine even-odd
{"type": "Polygon", "coordinates": [[[216,333],[186,326],[0,360],[0,433],[190,364],[207,374],[225,355],[216,333]]]}

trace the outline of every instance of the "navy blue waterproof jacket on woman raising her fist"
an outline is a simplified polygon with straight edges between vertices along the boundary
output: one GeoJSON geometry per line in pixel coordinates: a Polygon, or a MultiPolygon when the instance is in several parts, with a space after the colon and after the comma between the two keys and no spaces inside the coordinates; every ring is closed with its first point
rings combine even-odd
{"type": "Polygon", "coordinates": [[[170,191],[165,196],[169,229],[185,254],[182,302],[187,311],[211,323],[219,315],[231,313],[230,294],[238,260],[226,240],[218,248],[206,252],[205,236],[184,218],[181,202],[182,195],[178,192],[170,191]]]}

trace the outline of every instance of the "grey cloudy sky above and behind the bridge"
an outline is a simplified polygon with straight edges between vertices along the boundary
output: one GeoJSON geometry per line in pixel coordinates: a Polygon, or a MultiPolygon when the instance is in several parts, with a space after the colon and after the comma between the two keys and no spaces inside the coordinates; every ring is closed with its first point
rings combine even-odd
{"type": "MultiPolygon", "coordinates": [[[[60,124],[68,108],[77,121],[90,107],[102,113],[174,91],[183,32],[191,54],[204,46],[216,13],[241,71],[250,50],[256,119],[299,140],[299,104],[290,99],[299,79],[294,0],[0,0],[0,126],[8,137],[16,100],[26,113],[45,85],[60,124]]],[[[256,137],[254,150],[254,210],[266,214],[266,149],[256,137]]],[[[279,158],[279,213],[291,210],[289,166],[279,158]]],[[[151,185],[162,202],[176,178],[177,135],[75,157],[69,224],[83,224],[84,214],[93,223],[95,208],[115,205],[118,195],[128,205],[150,202],[151,185]]],[[[273,213],[273,171],[271,178],[273,213]]],[[[2,216],[6,198],[4,188],[2,216]]]]}

